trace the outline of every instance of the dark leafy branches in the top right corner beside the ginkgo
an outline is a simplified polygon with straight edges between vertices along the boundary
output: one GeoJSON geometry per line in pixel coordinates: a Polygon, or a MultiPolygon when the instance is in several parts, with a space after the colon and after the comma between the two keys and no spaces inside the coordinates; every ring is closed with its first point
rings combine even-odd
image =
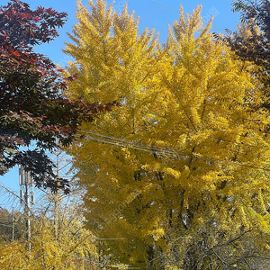
{"type": "Polygon", "coordinates": [[[270,2],[238,0],[232,5],[233,12],[240,13],[242,25],[238,31],[227,31],[225,40],[239,58],[259,67],[255,76],[263,83],[265,96],[259,107],[270,110],[270,2]]]}

